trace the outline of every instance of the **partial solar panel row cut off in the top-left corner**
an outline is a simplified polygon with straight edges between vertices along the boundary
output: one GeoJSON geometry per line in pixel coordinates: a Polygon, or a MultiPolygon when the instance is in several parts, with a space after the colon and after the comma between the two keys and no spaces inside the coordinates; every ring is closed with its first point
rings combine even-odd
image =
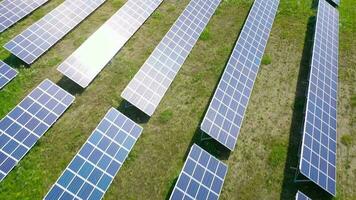
{"type": "Polygon", "coordinates": [[[48,0],[3,0],[0,2],[0,33],[48,0]]]}

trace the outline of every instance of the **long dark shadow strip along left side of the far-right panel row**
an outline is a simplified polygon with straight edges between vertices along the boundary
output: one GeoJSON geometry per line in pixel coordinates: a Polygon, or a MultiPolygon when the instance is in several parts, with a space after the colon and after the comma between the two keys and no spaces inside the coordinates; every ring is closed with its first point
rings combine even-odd
{"type": "MultiPolygon", "coordinates": [[[[317,1],[314,0],[312,8],[317,8],[317,1]]],[[[302,142],[302,131],[304,124],[304,111],[306,107],[306,94],[308,90],[308,77],[313,52],[313,39],[315,32],[316,17],[308,19],[306,36],[302,60],[299,66],[298,82],[295,91],[293,106],[293,116],[290,126],[289,144],[286,164],[284,167],[284,178],[280,199],[294,199],[298,190],[305,193],[312,199],[331,199],[331,196],[313,182],[295,182],[296,170],[299,166],[300,145],[302,142]],[[295,168],[295,169],[294,169],[295,168]]],[[[302,175],[300,175],[302,176],[302,175]]],[[[305,177],[301,177],[305,180],[305,177]]]]}

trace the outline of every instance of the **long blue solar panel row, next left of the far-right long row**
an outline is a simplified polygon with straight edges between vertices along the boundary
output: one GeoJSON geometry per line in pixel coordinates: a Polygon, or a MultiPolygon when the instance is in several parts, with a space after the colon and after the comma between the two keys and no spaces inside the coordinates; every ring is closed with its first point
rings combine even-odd
{"type": "Polygon", "coordinates": [[[279,0],[256,0],[202,121],[201,130],[234,150],[279,0]]]}

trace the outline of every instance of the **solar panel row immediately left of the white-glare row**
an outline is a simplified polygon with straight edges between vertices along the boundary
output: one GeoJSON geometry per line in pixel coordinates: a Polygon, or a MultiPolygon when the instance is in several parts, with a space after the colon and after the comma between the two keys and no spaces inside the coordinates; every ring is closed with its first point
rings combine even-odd
{"type": "Polygon", "coordinates": [[[104,1],[66,0],[4,47],[27,64],[31,64],[104,1]]]}

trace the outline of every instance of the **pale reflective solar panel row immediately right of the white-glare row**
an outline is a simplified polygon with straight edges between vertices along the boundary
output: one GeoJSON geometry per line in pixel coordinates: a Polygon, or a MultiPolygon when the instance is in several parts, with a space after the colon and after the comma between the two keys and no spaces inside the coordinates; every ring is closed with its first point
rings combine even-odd
{"type": "Polygon", "coordinates": [[[121,96],[151,116],[221,0],[191,0],[121,96]]]}

